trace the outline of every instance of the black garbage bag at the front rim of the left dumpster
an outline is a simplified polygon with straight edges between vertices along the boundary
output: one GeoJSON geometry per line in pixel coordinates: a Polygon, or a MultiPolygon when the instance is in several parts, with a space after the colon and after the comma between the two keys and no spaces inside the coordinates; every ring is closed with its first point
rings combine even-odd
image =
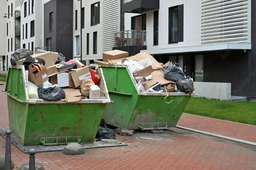
{"type": "Polygon", "coordinates": [[[59,101],[65,98],[65,91],[58,86],[52,86],[47,89],[39,87],[37,92],[39,99],[46,101],[59,101]]]}

